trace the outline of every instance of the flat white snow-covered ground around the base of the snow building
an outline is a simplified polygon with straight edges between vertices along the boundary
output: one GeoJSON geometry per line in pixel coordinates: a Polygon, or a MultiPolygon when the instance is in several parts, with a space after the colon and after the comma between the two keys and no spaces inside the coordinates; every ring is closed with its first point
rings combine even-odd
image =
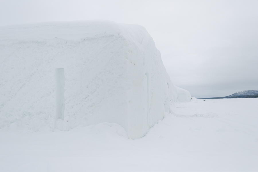
{"type": "Polygon", "coordinates": [[[258,99],[193,99],[139,139],[115,123],[0,130],[0,171],[258,171],[258,99]]]}

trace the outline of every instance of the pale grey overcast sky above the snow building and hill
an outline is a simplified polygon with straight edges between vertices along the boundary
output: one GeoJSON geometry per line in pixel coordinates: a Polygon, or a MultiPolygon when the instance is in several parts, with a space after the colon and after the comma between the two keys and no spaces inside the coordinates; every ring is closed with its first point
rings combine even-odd
{"type": "Polygon", "coordinates": [[[258,1],[0,0],[0,26],[106,19],[153,37],[173,84],[196,98],[258,90],[258,1]]]}

